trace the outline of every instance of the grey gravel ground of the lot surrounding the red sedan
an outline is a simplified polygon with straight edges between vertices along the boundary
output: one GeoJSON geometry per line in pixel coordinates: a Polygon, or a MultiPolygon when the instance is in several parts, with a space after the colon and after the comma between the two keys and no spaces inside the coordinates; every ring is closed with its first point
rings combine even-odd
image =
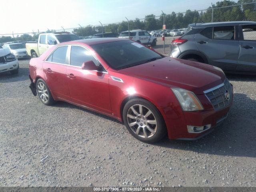
{"type": "Polygon", "coordinates": [[[29,60],[0,74],[0,186],[256,186],[256,78],[228,75],[234,103],[198,141],[144,144],[107,116],[29,89],[29,60]]]}

